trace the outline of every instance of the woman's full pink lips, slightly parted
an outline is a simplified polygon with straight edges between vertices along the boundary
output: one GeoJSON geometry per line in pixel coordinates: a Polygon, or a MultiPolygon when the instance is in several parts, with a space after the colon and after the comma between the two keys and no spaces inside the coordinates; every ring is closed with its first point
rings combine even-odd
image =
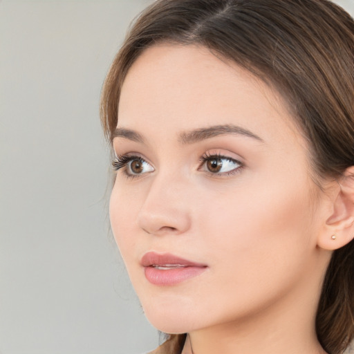
{"type": "Polygon", "coordinates": [[[147,280],[156,286],[174,286],[197,277],[207,269],[206,264],[196,263],[174,254],[147,252],[141,259],[147,280]]]}

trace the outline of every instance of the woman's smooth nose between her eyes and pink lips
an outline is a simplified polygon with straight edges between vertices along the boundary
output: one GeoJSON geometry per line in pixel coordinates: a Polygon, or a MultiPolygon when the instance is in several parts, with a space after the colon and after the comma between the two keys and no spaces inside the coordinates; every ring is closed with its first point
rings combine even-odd
{"type": "Polygon", "coordinates": [[[138,214],[138,224],[147,234],[183,234],[191,226],[186,185],[157,176],[138,214]]]}

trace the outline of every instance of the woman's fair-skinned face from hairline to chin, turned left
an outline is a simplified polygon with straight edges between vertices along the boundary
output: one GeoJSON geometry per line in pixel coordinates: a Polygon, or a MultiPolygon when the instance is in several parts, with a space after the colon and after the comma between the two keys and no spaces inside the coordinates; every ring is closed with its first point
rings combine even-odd
{"type": "Polygon", "coordinates": [[[238,321],[314,283],[317,189],[272,88],[205,48],[161,44],[131,67],[118,116],[111,225],[153,326],[238,321]]]}

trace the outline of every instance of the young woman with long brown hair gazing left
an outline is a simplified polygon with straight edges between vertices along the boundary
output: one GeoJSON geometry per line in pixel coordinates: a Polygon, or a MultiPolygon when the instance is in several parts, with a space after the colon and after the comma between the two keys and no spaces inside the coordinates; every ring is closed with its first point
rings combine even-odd
{"type": "Polygon", "coordinates": [[[158,0],[102,93],[113,234],[159,354],[350,353],[354,21],[158,0]]]}

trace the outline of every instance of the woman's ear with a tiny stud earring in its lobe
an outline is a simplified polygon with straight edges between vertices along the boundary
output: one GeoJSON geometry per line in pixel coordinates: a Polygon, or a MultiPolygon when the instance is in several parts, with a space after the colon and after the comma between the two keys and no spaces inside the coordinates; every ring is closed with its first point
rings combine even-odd
{"type": "Polygon", "coordinates": [[[317,239],[317,245],[325,250],[337,250],[354,239],[354,166],[337,181],[334,193],[325,231],[317,239]]]}

